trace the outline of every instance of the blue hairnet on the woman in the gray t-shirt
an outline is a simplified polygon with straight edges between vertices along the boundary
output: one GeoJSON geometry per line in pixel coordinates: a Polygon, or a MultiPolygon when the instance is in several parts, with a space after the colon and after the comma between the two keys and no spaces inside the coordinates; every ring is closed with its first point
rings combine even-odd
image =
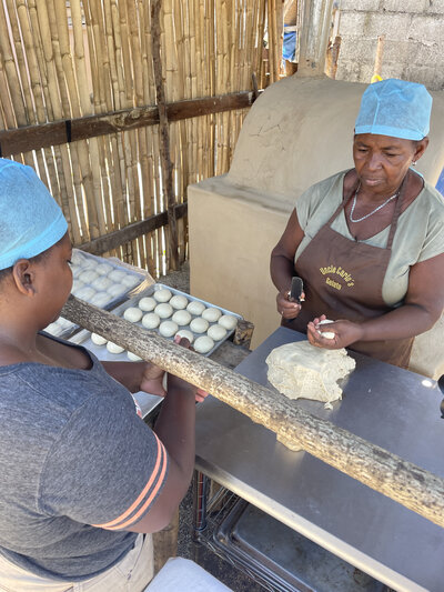
{"type": "Polygon", "coordinates": [[[67,231],[62,210],[33,169],[0,158],[0,270],[42,253],[67,231]]]}

